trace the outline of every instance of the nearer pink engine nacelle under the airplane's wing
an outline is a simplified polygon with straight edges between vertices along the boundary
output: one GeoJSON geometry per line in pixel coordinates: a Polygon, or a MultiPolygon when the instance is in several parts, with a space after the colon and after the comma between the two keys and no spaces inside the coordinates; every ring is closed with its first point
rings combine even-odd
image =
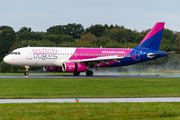
{"type": "Polygon", "coordinates": [[[87,70],[87,66],[82,63],[63,63],[62,64],[63,72],[85,72],[87,70]]]}

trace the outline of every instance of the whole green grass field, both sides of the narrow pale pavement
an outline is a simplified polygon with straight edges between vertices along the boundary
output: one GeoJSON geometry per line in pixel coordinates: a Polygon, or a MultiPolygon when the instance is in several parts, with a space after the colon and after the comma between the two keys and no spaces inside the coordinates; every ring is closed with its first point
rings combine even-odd
{"type": "MultiPolygon", "coordinates": [[[[0,98],[180,97],[180,78],[0,79],[0,98]]],[[[173,103],[0,104],[0,119],[180,119],[173,103]]]]}

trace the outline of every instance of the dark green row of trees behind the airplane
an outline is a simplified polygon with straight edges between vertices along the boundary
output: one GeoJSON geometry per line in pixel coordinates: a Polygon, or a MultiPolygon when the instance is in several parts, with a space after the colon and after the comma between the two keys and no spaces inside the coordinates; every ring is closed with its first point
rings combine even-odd
{"type": "MultiPolygon", "coordinates": [[[[46,32],[34,32],[31,28],[22,27],[15,32],[10,26],[0,26],[0,61],[12,50],[19,47],[103,47],[133,48],[136,47],[150,29],[142,32],[127,29],[118,25],[91,25],[84,29],[81,24],[67,24],[50,27],[46,32]]],[[[160,45],[162,51],[180,53],[180,32],[164,29],[160,45]]],[[[158,62],[157,62],[158,63],[158,62]]],[[[1,62],[1,71],[4,70],[1,62]]],[[[15,68],[12,68],[11,71],[15,68]]]]}

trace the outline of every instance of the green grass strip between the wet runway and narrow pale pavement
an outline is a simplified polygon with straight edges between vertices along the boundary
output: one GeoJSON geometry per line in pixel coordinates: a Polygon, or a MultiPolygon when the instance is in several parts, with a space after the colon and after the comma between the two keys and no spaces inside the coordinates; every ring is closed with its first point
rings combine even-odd
{"type": "Polygon", "coordinates": [[[180,97],[180,78],[0,79],[0,98],[180,97]]]}

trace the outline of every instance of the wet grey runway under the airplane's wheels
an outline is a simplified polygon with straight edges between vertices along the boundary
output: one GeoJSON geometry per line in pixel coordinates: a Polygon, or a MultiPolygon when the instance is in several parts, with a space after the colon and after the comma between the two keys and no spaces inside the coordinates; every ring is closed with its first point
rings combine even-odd
{"type": "Polygon", "coordinates": [[[180,78],[180,75],[0,75],[0,78],[180,78]]]}

